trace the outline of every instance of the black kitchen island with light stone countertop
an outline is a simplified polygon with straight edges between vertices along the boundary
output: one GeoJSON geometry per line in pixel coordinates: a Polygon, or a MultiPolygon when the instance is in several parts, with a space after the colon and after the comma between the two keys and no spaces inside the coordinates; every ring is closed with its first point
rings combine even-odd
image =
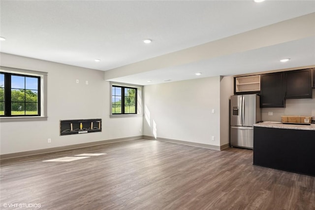
{"type": "Polygon", "coordinates": [[[315,124],[254,124],[253,165],[315,176],[315,124]]]}

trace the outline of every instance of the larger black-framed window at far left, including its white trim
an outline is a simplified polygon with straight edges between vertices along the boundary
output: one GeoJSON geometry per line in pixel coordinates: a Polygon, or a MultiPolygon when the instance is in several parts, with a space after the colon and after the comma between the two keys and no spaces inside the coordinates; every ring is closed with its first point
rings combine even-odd
{"type": "Polygon", "coordinates": [[[0,67],[0,117],[47,118],[47,72],[0,67]]]}

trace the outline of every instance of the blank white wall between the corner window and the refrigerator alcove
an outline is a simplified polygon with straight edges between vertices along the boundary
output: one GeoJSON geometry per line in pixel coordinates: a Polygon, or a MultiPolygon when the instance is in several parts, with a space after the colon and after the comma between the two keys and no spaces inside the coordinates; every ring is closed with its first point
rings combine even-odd
{"type": "Polygon", "coordinates": [[[143,135],[220,146],[220,76],[145,86],[144,105],[143,135]]]}

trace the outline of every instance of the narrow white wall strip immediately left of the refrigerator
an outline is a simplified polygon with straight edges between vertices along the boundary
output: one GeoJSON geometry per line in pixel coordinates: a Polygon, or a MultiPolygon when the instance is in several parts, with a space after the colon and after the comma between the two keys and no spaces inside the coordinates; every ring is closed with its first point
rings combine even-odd
{"type": "Polygon", "coordinates": [[[220,145],[230,142],[229,100],[234,95],[233,76],[221,77],[220,82],[220,145]]]}

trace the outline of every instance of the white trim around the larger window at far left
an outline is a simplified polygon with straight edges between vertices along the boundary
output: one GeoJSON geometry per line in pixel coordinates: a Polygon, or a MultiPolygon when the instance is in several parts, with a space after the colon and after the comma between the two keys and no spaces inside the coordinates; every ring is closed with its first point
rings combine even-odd
{"type": "Polygon", "coordinates": [[[0,122],[47,120],[47,76],[48,72],[0,67],[0,72],[17,73],[40,77],[40,116],[0,117],[0,122]]]}

